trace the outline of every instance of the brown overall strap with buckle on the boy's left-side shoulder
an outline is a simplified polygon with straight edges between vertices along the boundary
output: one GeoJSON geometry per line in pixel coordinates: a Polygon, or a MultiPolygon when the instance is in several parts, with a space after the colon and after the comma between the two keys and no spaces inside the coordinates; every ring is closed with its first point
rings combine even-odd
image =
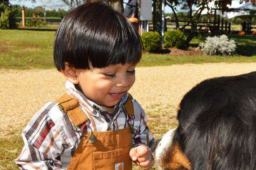
{"type": "Polygon", "coordinates": [[[82,125],[88,121],[84,111],[79,107],[79,102],[67,93],[56,100],[56,102],[58,103],[58,108],[67,113],[75,126],[82,125]]]}

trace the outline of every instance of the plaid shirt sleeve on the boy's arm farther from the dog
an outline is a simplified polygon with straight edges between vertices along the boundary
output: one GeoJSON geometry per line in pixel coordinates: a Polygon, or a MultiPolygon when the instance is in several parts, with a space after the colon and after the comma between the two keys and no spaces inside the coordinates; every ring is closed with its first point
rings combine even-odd
{"type": "Polygon", "coordinates": [[[15,159],[21,170],[61,170],[57,157],[63,152],[65,141],[49,117],[52,105],[38,111],[22,132],[24,147],[15,159]]]}

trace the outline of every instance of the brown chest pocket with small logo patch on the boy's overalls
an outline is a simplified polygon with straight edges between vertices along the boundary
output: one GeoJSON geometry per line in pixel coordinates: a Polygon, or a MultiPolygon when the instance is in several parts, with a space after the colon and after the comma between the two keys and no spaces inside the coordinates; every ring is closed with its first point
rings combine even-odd
{"type": "Polygon", "coordinates": [[[132,170],[130,150],[129,146],[108,152],[94,152],[94,170],[132,170]]]}

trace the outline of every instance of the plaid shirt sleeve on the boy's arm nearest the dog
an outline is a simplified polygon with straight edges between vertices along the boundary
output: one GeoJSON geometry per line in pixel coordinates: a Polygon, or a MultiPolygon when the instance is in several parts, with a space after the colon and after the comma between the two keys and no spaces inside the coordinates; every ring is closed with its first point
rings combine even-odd
{"type": "Polygon", "coordinates": [[[154,142],[154,137],[151,133],[148,132],[147,126],[147,116],[145,111],[140,106],[140,104],[134,99],[134,128],[135,133],[132,139],[133,147],[136,147],[140,144],[151,147],[151,144],[154,142]]]}

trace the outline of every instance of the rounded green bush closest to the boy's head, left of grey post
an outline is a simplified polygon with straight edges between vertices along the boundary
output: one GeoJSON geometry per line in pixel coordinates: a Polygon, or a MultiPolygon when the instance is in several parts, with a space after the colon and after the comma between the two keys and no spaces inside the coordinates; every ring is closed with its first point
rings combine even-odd
{"type": "Polygon", "coordinates": [[[161,36],[158,32],[144,32],[141,35],[141,39],[145,48],[145,51],[157,52],[160,51],[162,47],[161,36]]]}

